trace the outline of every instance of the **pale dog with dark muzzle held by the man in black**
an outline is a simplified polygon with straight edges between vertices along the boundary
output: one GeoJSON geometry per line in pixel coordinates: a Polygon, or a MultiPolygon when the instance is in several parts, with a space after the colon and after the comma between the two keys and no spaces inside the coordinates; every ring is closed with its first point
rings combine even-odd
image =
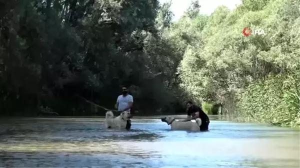
{"type": "Polygon", "coordinates": [[[201,119],[196,119],[196,122],[181,122],[176,121],[173,117],[167,116],[161,119],[162,122],[166,122],[167,125],[171,125],[171,130],[186,130],[186,131],[200,131],[202,124],[201,119]]]}

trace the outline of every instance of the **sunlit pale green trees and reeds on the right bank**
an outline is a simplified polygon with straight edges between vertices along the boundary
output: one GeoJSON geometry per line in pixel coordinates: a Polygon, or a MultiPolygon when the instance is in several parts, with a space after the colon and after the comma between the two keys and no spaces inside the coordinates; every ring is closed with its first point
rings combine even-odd
{"type": "Polygon", "coordinates": [[[227,115],[276,125],[300,125],[298,0],[243,0],[208,18],[181,18],[186,49],[181,87],[194,99],[222,103],[227,115]],[[244,36],[242,30],[264,30],[244,36]]]}

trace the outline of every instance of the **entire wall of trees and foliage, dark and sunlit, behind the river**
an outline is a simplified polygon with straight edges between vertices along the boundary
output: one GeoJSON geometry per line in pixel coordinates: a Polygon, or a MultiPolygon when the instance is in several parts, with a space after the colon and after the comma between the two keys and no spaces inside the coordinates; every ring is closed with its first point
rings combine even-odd
{"type": "Polygon", "coordinates": [[[242,0],[210,16],[193,0],[176,22],[157,0],[1,3],[1,114],[42,105],[89,115],[79,97],[109,108],[127,85],[144,113],[182,112],[190,98],[242,120],[300,125],[298,0],[242,0]]]}

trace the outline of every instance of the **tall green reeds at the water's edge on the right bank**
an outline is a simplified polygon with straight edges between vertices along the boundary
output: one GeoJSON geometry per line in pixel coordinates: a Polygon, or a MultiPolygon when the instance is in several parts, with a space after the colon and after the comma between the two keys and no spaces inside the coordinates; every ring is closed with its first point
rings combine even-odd
{"type": "Polygon", "coordinates": [[[300,126],[300,71],[250,85],[237,104],[234,119],[276,126],[300,126]]]}

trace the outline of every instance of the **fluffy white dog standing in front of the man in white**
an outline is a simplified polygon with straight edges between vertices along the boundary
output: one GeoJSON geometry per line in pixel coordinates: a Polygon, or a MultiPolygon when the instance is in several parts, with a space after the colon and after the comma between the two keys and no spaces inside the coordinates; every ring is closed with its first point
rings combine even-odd
{"type": "Polygon", "coordinates": [[[117,128],[125,129],[127,120],[130,120],[130,112],[124,111],[119,116],[113,118],[112,111],[107,111],[105,114],[105,120],[103,122],[104,127],[107,128],[117,128]]]}

